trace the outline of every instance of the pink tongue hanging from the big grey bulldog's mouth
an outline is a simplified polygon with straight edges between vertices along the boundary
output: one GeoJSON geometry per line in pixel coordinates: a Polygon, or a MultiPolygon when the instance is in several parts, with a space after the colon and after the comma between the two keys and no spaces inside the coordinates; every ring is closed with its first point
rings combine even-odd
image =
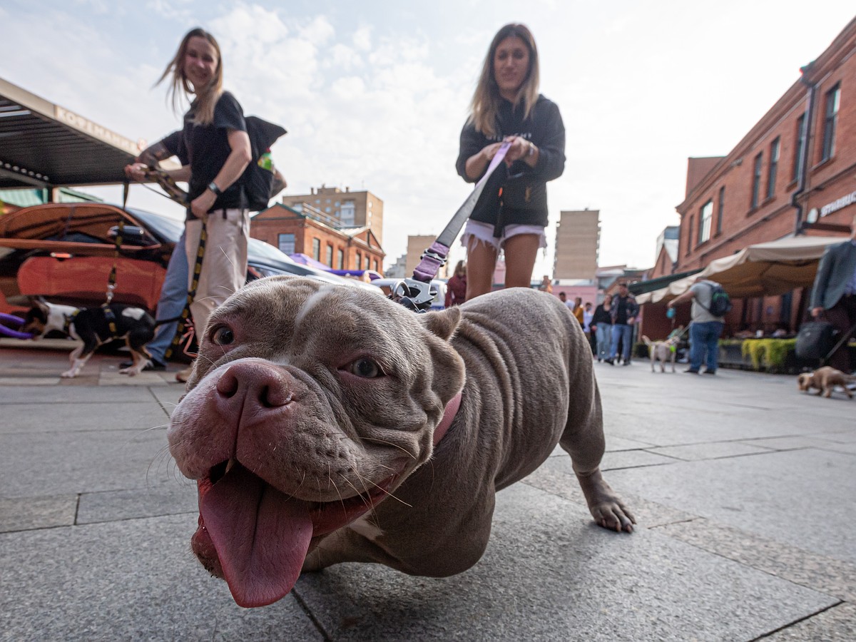
{"type": "Polygon", "coordinates": [[[202,496],[199,512],[239,606],[265,606],[291,591],[312,539],[308,503],[235,465],[202,496]]]}

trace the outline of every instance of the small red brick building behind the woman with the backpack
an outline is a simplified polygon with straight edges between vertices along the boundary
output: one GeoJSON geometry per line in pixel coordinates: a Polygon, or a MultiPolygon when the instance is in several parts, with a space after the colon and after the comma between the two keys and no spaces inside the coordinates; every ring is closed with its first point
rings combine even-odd
{"type": "Polygon", "coordinates": [[[386,254],[368,227],[337,227],[335,217],[304,205],[300,211],[277,203],[253,217],[250,236],[286,254],[302,253],[333,270],[383,269],[386,254]]]}

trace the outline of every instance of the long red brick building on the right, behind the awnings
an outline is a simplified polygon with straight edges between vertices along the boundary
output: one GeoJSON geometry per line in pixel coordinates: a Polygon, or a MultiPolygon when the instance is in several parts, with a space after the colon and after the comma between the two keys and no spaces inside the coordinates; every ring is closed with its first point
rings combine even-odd
{"type": "MultiPolygon", "coordinates": [[[[849,233],[856,213],[856,19],[801,71],[727,156],[689,159],[686,198],[677,206],[677,260],[669,266],[657,257],[649,278],[699,270],[788,235],[849,233]]],[[[800,288],[735,301],[727,332],[794,330],[808,294],[800,288]]],[[[664,325],[664,313],[665,306],[645,306],[652,338],[662,334],[654,329],[664,325]]]]}

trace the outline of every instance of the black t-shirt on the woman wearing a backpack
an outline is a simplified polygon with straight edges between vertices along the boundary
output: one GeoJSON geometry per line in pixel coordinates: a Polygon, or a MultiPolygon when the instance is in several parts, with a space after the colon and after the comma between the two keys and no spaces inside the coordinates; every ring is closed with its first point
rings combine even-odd
{"type": "MultiPolygon", "coordinates": [[[[193,107],[184,115],[184,147],[187,150],[187,161],[190,163],[191,175],[187,189],[188,202],[205,192],[208,184],[213,181],[223,163],[229,158],[232,148],[229,146],[229,130],[247,131],[244,120],[244,110],[241,104],[229,92],[223,92],[214,107],[214,120],[210,125],[193,123],[193,107]]],[[[180,156],[181,158],[181,156],[180,156]]],[[[182,159],[183,162],[183,159],[182,159]]],[[[247,198],[243,189],[244,176],[229,185],[214,201],[211,210],[227,208],[246,208],[247,198]]],[[[195,218],[190,208],[187,217],[195,218]]]]}

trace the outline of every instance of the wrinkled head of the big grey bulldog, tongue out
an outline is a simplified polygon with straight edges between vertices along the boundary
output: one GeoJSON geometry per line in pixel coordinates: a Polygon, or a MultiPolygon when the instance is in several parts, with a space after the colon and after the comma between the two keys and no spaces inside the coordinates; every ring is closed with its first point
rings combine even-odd
{"type": "Polygon", "coordinates": [[[430,458],[463,385],[448,342],[460,318],[292,276],[212,314],[169,450],[198,482],[193,550],[237,603],[288,593],[319,538],[430,458]]]}

